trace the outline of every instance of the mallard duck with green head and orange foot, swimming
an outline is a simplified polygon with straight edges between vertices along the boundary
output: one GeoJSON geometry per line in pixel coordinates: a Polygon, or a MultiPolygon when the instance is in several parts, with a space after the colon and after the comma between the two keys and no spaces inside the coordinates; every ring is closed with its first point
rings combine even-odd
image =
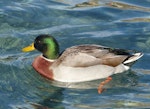
{"type": "Polygon", "coordinates": [[[59,45],[51,35],[39,35],[34,43],[22,49],[42,52],[32,63],[33,68],[42,76],[59,82],[85,82],[106,78],[98,87],[112,78],[111,75],[127,71],[143,53],[95,44],[77,45],[59,53],[59,45]]]}

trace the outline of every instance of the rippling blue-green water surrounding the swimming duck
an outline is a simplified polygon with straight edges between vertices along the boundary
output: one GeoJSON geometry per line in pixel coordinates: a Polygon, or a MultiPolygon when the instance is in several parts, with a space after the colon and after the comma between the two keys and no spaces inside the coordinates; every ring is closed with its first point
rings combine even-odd
{"type": "Polygon", "coordinates": [[[150,108],[149,7],[150,0],[1,0],[0,109],[150,108]],[[100,95],[100,80],[62,88],[33,70],[39,52],[21,52],[39,34],[55,36],[61,51],[94,43],[145,55],[100,95]]]}

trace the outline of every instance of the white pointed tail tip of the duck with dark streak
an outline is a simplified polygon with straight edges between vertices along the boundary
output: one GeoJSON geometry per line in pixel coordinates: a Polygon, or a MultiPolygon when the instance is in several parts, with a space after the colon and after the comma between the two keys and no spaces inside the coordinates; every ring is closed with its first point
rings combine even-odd
{"type": "Polygon", "coordinates": [[[143,56],[143,53],[135,53],[129,56],[124,62],[124,65],[131,66],[135,61],[143,56]]]}

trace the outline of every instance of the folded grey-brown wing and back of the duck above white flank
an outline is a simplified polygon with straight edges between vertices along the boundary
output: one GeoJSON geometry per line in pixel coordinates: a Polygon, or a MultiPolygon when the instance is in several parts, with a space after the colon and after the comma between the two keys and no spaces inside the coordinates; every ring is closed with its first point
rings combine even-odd
{"type": "Polygon", "coordinates": [[[117,66],[133,55],[127,50],[100,45],[80,45],[66,49],[56,64],[70,67],[88,67],[98,64],[117,66]]]}

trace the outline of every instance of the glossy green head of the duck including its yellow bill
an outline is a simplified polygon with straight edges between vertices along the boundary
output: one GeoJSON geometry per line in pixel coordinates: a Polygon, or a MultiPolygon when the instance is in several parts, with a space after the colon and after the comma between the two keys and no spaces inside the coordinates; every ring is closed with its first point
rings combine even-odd
{"type": "Polygon", "coordinates": [[[42,52],[43,56],[48,59],[56,59],[59,56],[59,45],[56,39],[50,35],[42,34],[37,36],[34,43],[23,48],[23,51],[32,51],[34,48],[42,52]]]}

